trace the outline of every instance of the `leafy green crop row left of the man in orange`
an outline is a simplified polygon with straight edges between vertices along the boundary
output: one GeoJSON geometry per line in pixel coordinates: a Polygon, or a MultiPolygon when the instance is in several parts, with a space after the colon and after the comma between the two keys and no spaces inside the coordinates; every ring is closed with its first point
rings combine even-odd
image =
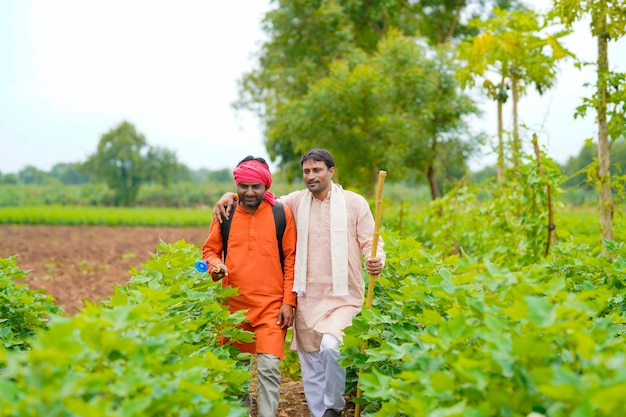
{"type": "Polygon", "coordinates": [[[55,318],[28,352],[4,352],[0,416],[246,416],[249,356],[231,343],[251,334],[223,303],[235,290],[196,271],[199,257],[162,242],[108,301],[55,318]]]}

